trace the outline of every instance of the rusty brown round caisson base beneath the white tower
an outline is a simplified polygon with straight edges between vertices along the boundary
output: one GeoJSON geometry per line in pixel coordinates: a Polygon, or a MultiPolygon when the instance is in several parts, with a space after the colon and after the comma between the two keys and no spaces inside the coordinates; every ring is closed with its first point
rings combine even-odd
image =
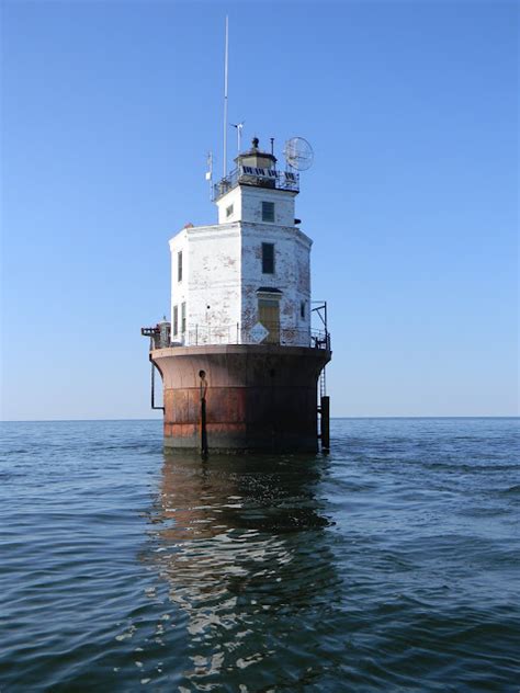
{"type": "Polygon", "coordinates": [[[205,430],[210,454],[316,452],[317,382],[330,355],[274,344],[151,351],[162,375],[165,446],[201,451],[205,430]]]}

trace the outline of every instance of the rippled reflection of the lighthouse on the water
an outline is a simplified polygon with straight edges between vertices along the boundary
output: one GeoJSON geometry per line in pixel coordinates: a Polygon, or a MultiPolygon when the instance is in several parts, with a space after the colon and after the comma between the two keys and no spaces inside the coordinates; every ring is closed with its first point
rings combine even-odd
{"type": "Polygon", "coordinates": [[[312,683],[332,666],[320,654],[339,598],[326,468],[314,456],[165,458],[154,560],[186,614],[188,690],[226,690],[223,672],[229,690],[312,683]]]}

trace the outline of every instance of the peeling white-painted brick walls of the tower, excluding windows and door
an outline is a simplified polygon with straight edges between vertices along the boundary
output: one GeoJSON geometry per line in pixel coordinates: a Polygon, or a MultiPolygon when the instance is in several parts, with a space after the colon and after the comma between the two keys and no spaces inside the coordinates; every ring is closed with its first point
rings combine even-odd
{"type": "MultiPolygon", "coordinates": [[[[312,240],[294,226],[295,193],[239,185],[218,201],[219,216],[233,204],[233,219],[183,229],[170,241],[173,306],[186,304],[182,344],[236,343],[258,322],[258,289],[280,292],[282,343],[308,345],[312,240]],[[275,223],[262,223],[262,201],[274,202],[275,223]],[[262,242],[274,243],[274,273],[262,273],[262,242]],[[178,281],[178,252],[183,277],[178,281]],[[301,304],[304,302],[304,317],[301,304]]],[[[173,332],[173,330],[172,330],[173,332]]]]}

